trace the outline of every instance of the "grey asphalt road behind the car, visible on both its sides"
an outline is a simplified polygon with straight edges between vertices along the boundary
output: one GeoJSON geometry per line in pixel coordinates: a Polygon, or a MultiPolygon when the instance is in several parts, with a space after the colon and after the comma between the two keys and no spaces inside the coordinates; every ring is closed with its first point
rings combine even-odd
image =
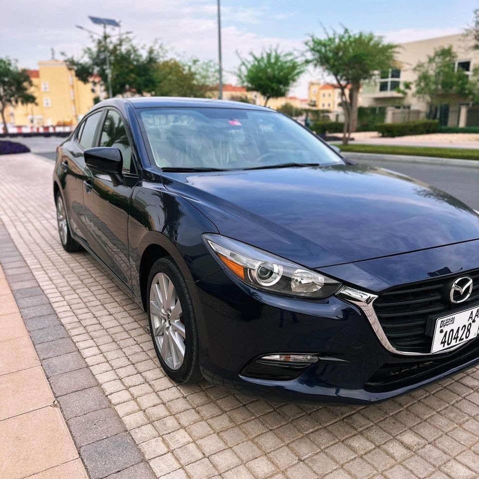
{"type": "MultiPolygon", "coordinates": [[[[21,138],[13,139],[28,146],[32,153],[55,159],[55,149],[64,138],[21,138]]],[[[464,203],[479,210],[479,169],[425,163],[406,163],[400,161],[354,160],[380,168],[398,171],[404,175],[429,183],[436,188],[462,200],[464,203]]]]}

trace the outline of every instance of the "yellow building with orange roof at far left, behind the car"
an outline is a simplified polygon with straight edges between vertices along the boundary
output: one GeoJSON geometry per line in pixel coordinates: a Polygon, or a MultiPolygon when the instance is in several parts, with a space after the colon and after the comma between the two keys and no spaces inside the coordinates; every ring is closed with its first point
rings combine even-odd
{"type": "Polygon", "coordinates": [[[76,125],[101,96],[99,79],[83,83],[62,60],[38,62],[38,70],[29,70],[36,104],[18,105],[6,111],[9,129],[25,126],[76,125]]]}

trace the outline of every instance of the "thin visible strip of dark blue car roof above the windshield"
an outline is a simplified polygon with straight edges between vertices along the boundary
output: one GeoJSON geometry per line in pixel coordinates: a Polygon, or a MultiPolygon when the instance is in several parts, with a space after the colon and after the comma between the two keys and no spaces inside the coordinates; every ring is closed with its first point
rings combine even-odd
{"type": "Polygon", "coordinates": [[[208,98],[182,98],[174,96],[142,96],[137,98],[111,98],[103,100],[95,105],[95,108],[104,106],[126,106],[133,108],[160,108],[160,107],[183,107],[183,108],[236,108],[242,110],[274,111],[263,106],[243,103],[240,101],[218,100],[208,98]]]}

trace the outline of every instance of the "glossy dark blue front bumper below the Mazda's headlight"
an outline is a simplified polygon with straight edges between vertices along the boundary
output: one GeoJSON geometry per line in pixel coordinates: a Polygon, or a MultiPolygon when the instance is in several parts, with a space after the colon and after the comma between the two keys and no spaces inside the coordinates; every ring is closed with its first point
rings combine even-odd
{"type": "Polygon", "coordinates": [[[191,283],[202,308],[200,365],[209,381],[272,399],[370,404],[479,363],[479,341],[456,351],[410,357],[388,351],[363,310],[345,299],[305,300],[264,293],[226,270],[191,283]],[[278,352],[319,356],[295,379],[247,377],[246,365],[278,352]]]}

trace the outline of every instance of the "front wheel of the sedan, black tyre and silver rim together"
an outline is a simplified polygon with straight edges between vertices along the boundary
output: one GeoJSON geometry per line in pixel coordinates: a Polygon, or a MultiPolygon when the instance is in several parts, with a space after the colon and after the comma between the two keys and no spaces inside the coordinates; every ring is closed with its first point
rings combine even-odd
{"type": "Polygon", "coordinates": [[[190,291],[170,258],[155,262],[148,278],[148,321],[156,355],[177,383],[198,382],[200,343],[190,291]]]}

